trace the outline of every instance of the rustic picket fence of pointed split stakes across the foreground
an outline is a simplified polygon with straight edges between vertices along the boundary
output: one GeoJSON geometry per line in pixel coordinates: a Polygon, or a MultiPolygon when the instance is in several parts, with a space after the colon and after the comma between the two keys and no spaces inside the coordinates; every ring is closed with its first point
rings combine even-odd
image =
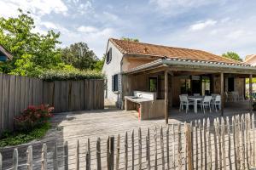
{"type": "MultiPolygon", "coordinates": [[[[109,136],[106,141],[97,138],[86,141],[85,153],[80,142],[75,146],[75,156],[69,155],[67,142],[64,146],[47,151],[43,144],[41,158],[34,161],[32,146],[26,151],[26,163],[18,165],[18,151],[14,150],[13,166],[23,169],[253,169],[255,156],[254,115],[246,114],[215,119],[179,123],[167,127],[148,128],[144,135],[126,132],[122,138],[109,136]],[[60,151],[60,153],[59,153],[60,151]],[[73,156],[72,159],[71,156],[73,156]],[[73,165],[70,162],[73,161],[73,165]],[[82,164],[82,162],[84,162],[82,164]],[[36,168],[37,167],[37,168],[36,168]]],[[[0,154],[0,169],[2,165],[0,154]]],[[[4,158],[3,158],[4,159],[4,158]]]]}

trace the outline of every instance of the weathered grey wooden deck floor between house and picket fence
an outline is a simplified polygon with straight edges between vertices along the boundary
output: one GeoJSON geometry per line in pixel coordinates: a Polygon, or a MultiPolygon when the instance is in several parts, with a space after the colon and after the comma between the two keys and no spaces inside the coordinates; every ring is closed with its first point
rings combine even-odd
{"type": "MultiPolygon", "coordinates": [[[[248,107],[247,103],[243,102],[237,105],[237,103],[230,103],[224,110],[224,116],[233,116],[240,113],[247,113],[248,107]]],[[[177,122],[190,122],[196,119],[202,119],[210,117],[212,121],[213,118],[220,116],[219,112],[212,112],[203,114],[201,112],[195,114],[193,109],[189,111],[188,114],[184,112],[178,112],[177,109],[172,109],[169,114],[169,124],[177,122]]],[[[115,109],[108,109],[102,111],[77,111],[77,112],[65,112],[56,114],[52,120],[53,127],[49,130],[49,133],[40,141],[33,141],[33,156],[34,160],[39,161],[39,156],[41,154],[42,143],[48,144],[48,157],[49,165],[52,163],[50,158],[52,157],[52,150],[55,141],[59,145],[59,157],[60,166],[63,166],[63,161],[61,161],[61,156],[63,152],[62,145],[65,141],[68,141],[69,145],[69,167],[70,169],[75,168],[75,148],[77,140],[80,141],[80,167],[85,166],[85,146],[86,141],[90,138],[91,146],[93,147],[91,151],[96,152],[96,138],[100,137],[102,141],[102,148],[106,148],[106,140],[109,135],[117,136],[120,134],[121,140],[124,139],[125,132],[127,131],[131,135],[131,131],[134,129],[137,133],[138,127],[142,128],[143,136],[146,134],[146,130],[149,127],[153,130],[156,127],[166,127],[164,119],[155,119],[150,121],[141,121],[137,119],[136,111],[120,111],[115,109]]],[[[20,164],[26,163],[24,159],[26,157],[26,147],[28,144],[22,144],[18,147],[19,150],[19,161],[20,164]]],[[[10,159],[12,159],[12,153],[15,147],[6,147],[1,149],[3,154],[3,169],[11,167],[10,159]]],[[[102,150],[102,155],[106,155],[106,150],[102,150]]],[[[93,155],[95,157],[95,154],[93,155]]],[[[122,158],[120,158],[122,159],[122,158]]],[[[104,163],[104,162],[103,162],[104,163]]],[[[38,167],[40,164],[36,165],[38,167]]],[[[93,165],[92,165],[93,166],[93,165]]],[[[104,165],[103,165],[104,166],[104,165]]],[[[20,166],[20,169],[26,166],[20,166]]],[[[36,168],[35,167],[35,168],[36,168]]],[[[92,167],[95,169],[95,167],[92,167]]]]}

